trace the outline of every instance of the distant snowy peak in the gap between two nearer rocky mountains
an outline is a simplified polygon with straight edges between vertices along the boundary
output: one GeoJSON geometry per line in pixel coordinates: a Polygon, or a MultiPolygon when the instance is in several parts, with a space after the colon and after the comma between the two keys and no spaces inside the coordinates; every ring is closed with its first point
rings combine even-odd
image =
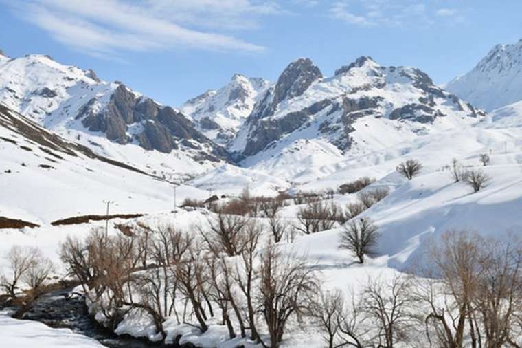
{"type": "Polygon", "coordinates": [[[192,117],[208,138],[227,144],[270,86],[271,83],[263,78],[234,74],[227,85],[188,100],[180,110],[192,117]]]}

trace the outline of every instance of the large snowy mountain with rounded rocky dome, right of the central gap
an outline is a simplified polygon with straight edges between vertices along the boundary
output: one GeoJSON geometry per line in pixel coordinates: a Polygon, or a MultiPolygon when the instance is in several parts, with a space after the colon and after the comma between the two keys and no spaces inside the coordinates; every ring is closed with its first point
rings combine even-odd
{"type": "Polygon", "coordinates": [[[414,67],[383,67],[363,56],[324,78],[299,58],[265,92],[229,149],[245,166],[311,180],[347,156],[467,127],[481,116],[414,67]]]}

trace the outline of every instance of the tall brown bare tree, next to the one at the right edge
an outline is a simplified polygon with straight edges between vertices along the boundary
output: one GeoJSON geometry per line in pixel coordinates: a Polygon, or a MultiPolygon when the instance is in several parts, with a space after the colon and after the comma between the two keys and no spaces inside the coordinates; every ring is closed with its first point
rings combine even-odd
{"type": "Polygon", "coordinates": [[[445,232],[442,242],[433,241],[429,254],[435,266],[432,275],[438,280],[427,278],[414,287],[417,298],[429,308],[424,320],[428,339],[435,336],[441,347],[461,348],[466,336],[477,347],[473,298],[484,258],[479,240],[472,232],[445,232]]]}

